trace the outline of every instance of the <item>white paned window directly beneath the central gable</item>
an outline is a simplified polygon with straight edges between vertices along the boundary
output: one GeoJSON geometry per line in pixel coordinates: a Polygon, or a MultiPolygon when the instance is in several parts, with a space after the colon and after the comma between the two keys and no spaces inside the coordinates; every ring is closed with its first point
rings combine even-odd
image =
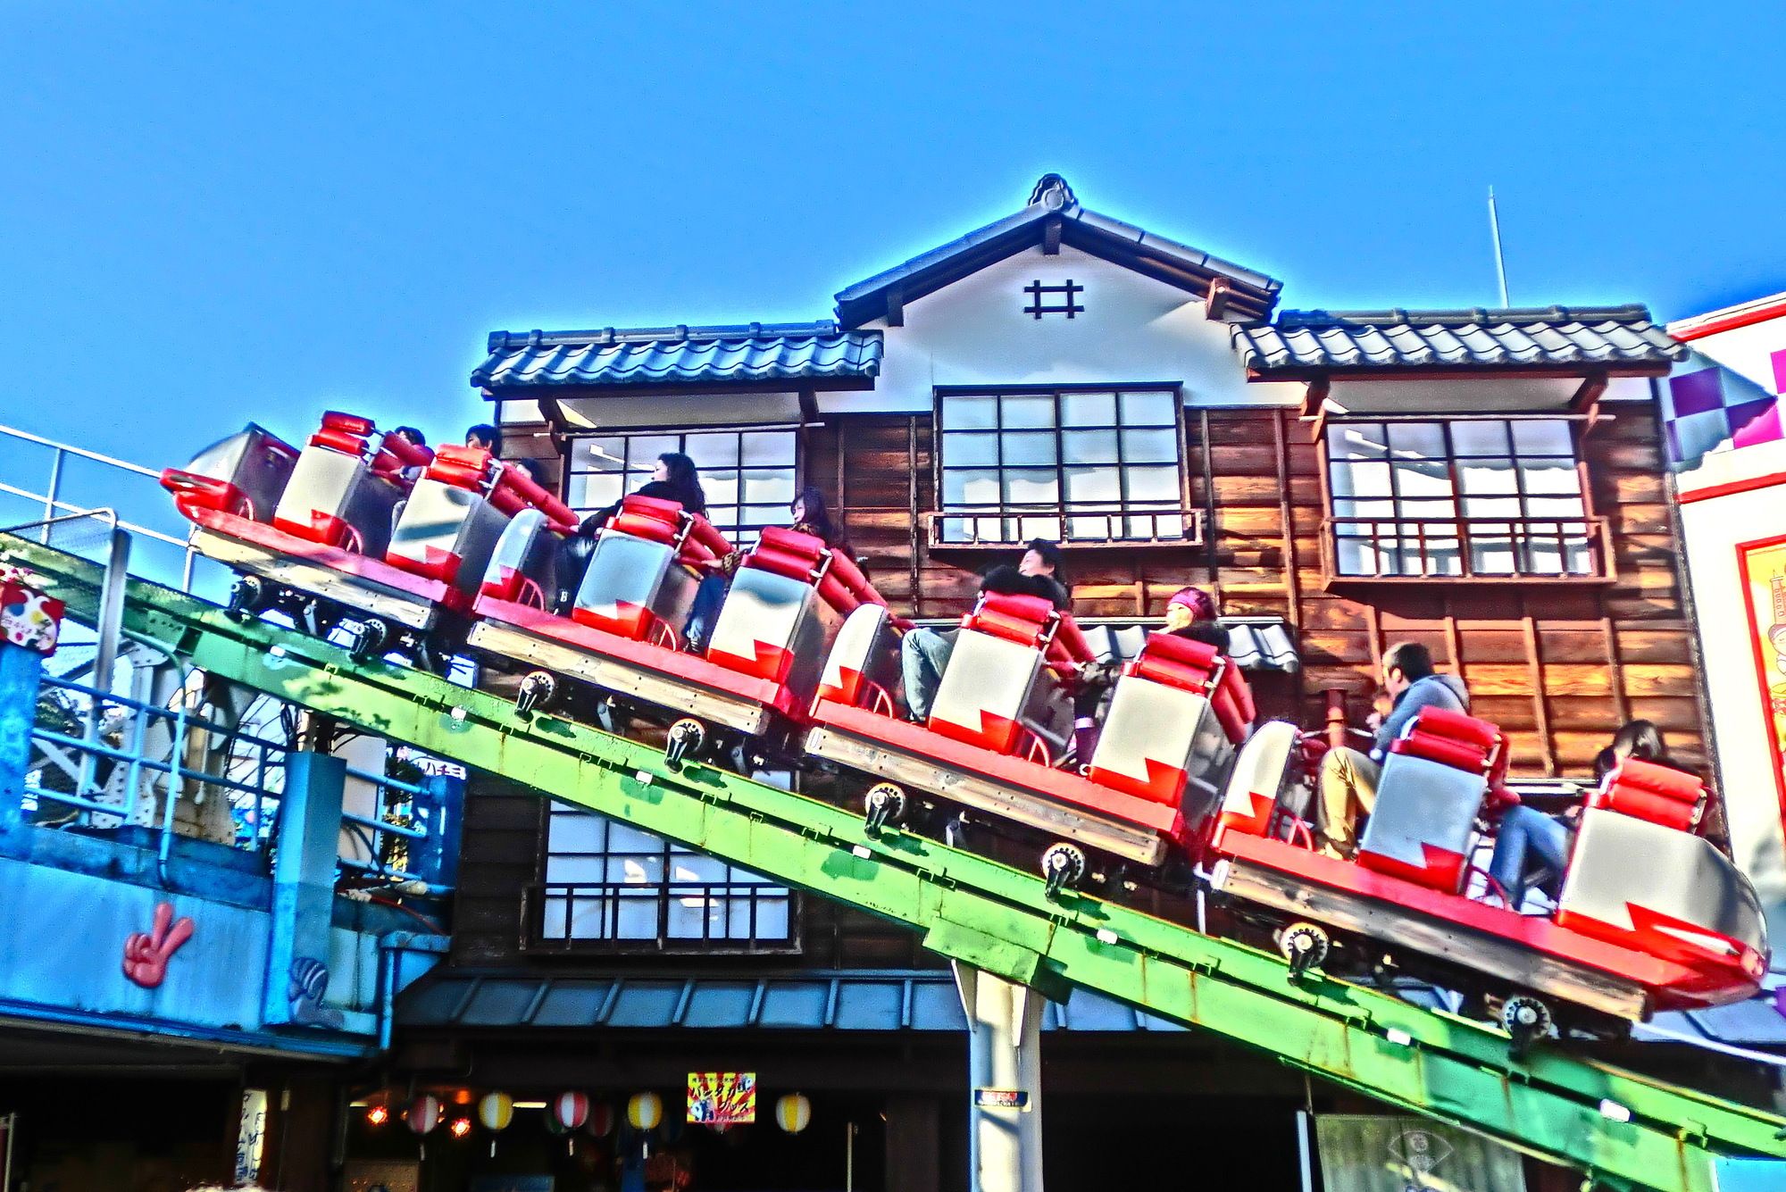
{"type": "Polygon", "coordinates": [[[1182,541],[1175,389],[938,396],[938,542],[1182,541]]]}

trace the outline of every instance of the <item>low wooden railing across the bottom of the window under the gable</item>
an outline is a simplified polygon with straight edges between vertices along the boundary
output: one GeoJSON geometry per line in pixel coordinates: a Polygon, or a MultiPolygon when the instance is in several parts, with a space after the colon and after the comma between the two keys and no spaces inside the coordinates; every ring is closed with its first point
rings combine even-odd
{"type": "Polygon", "coordinates": [[[1204,510],[1177,501],[945,505],[931,521],[931,546],[1013,546],[1050,539],[1064,546],[1200,546],[1204,510]]]}

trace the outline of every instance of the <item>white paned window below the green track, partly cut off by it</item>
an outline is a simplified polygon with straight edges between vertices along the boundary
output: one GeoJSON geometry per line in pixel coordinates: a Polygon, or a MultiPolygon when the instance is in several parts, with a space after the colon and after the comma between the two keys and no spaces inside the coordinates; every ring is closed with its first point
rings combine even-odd
{"type": "Polygon", "coordinates": [[[547,946],[709,951],[795,942],[786,887],[566,803],[552,803],[534,935],[547,946]]]}

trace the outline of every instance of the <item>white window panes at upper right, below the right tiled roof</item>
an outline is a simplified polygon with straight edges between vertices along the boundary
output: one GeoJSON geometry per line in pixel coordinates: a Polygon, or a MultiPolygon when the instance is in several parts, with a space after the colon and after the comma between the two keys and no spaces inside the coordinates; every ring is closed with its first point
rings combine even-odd
{"type": "Polygon", "coordinates": [[[1327,482],[1340,575],[1598,575],[1563,419],[1332,423],[1327,482]]]}

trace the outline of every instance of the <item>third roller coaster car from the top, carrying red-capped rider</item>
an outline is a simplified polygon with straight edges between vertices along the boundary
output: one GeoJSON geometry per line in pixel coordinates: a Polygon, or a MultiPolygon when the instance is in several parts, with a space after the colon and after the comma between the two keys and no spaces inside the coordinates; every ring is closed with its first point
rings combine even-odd
{"type": "Polygon", "coordinates": [[[1089,762],[1063,767],[1072,683],[1091,660],[1079,626],[1034,596],[986,592],[961,619],[931,717],[893,716],[880,639],[884,610],[850,616],[813,707],[809,753],[868,774],[873,830],[898,823],[909,791],[1052,837],[1050,892],[1088,871],[1086,849],[1163,865],[1216,808],[1252,721],[1238,667],[1213,648],[1152,633],[1125,664],[1089,762]]]}

